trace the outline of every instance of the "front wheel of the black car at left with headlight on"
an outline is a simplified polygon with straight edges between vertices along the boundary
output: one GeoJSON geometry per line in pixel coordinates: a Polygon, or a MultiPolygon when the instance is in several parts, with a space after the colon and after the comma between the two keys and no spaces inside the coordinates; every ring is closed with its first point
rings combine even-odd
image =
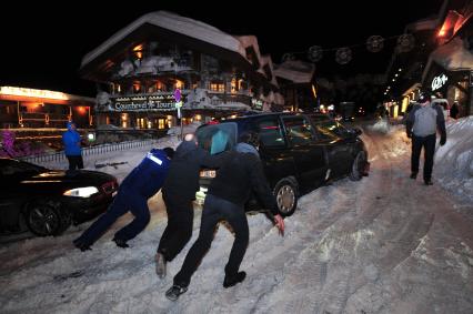
{"type": "Polygon", "coordinates": [[[70,225],[71,219],[52,202],[33,202],[27,206],[28,229],[39,236],[59,235],[70,225]]]}

